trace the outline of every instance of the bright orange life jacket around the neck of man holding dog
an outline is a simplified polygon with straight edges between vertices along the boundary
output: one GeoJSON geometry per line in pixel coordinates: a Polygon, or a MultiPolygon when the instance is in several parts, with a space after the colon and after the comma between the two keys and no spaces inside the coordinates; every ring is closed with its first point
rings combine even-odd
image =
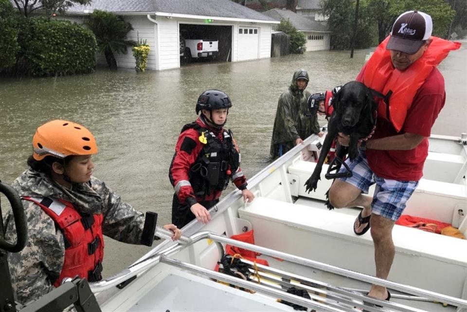
{"type": "Polygon", "coordinates": [[[383,95],[391,94],[388,101],[377,99],[378,115],[390,121],[394,128],[400,131],[418,89],[433,68],[441,63],[450,51],[459,49],[461,44],[431,37],[432,42],[423,55],[406,70],[399,71],[393,66],[391,52],[386,50],[389,37],[379,44],[368,60],[362,82],[383,95]]]}

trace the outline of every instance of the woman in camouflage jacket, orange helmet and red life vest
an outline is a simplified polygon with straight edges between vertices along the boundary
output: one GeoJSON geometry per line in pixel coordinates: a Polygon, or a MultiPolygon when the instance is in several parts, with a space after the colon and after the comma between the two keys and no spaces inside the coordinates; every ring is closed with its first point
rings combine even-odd
{"type": "MultiPolygon", "coordinates": [[[[141,244],[144,214],[123,202],[108,186],[91,176],[97,153],[92,133],[78,124],[54,120],[37,128],[30,166],[13,183],[28,222],[28,242],[8,256],[16,300],[25,304],[47,294],[63,278],[102,278],[106,235],[141,244]]],[[[16,239],[11,211],[5,238],[16,239]]],[[[173,224],[173,239],[181,231],[173,224]]],[[[149,245],[149,243],[148,243],[149,245]]]]}

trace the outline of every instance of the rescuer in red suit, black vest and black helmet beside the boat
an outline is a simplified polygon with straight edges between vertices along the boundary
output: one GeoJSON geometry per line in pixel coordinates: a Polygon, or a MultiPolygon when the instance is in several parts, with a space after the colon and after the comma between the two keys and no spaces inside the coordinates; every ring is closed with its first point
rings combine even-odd
{"type": "Polygon", "coordinates": [[[240,151],[232,131],[223,128],[231,107],[227,94],[207,90],[198,97],[198,119],[181,130],[169,169],[175,190],[172,220],[178,228],[195,218],[209,222],[207,209],[219,201],[231,181],[242,191],[245,201],[254,199],[240,168],[240,151]]]}

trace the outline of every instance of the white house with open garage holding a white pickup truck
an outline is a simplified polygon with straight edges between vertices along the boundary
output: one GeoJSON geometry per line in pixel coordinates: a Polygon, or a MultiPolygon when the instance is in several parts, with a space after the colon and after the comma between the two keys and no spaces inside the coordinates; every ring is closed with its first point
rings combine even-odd
{"type": "MultiPolygon", "coordinates": [[[[180,67],[180,33],[196,32],[200,39],[218,40],[218,59],[244,61],[269,58],[273,18],[231,0],[92,0],[90,5],[73,5],[66,18],[81,23],[93,10],[121,15],[134,30],[128,39],[147,40],[151,50],[147,68],[165,70],[180,67]]],[[[115,54],[120,67],[135,67],[129,51],[115,54]]],[[[98,62],[104,57],[98,57],[98,62]]]]}

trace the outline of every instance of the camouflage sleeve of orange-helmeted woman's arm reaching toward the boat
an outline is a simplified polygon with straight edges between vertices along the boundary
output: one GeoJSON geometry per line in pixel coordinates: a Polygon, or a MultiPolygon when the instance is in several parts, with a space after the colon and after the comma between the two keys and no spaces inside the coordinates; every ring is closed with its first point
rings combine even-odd
{"type": "Polygon", "coordinates": [[[104,235],[129,244],[141,244],[144,213],[123,202],[121,197],[112,192],[104,182],[92,178],[91,184],[107,203],[103,209],[102,231],[104,235]]]}

